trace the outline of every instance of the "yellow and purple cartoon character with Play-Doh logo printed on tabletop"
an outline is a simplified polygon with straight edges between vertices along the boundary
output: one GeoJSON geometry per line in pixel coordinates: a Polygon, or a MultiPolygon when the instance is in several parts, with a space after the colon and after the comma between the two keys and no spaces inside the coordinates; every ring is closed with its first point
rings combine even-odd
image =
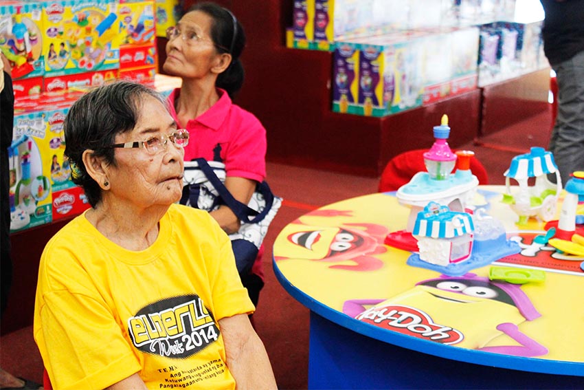
{"type": "Polygon", "coordinates": [[[390,299],[346,301],[343,312],[436,343],[513,356],[548,354],[546,347],[519,330],[524,321],[541,316],[521,286],[471,273],[420,281],[390,299]]]}

